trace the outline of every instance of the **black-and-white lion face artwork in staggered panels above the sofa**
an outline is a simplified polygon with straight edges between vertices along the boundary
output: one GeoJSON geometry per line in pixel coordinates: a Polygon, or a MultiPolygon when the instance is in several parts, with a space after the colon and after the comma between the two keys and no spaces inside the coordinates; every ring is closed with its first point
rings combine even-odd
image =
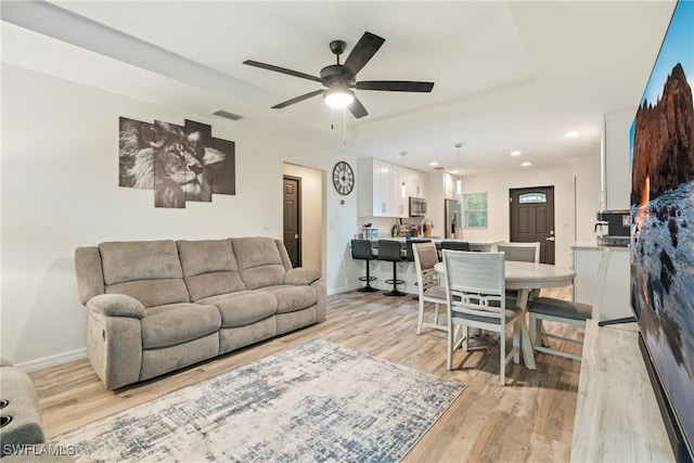
{"type": "Polygon", "coordinates": [[[235,194],[234,142],[213,138],[210,126],[119,123],[120,187],[154,189],[155,207],[169,208],[235,194]]]}

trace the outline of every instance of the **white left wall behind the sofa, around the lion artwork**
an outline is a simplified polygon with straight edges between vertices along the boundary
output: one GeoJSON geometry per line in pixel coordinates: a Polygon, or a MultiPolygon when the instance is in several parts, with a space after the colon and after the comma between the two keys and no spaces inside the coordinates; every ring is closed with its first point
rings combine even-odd
{"type": "MultiPolygon", "coordinates": [[[[332,171],[340,159],[355,163],[250,132],[243,123],[182,114],[3,64],[1,353],[27,370],[83,357],[76,247],[111,240],[281,239],[284,163],[332,171]],[[119,116],[211,125],[214,137],[236,143],[236,195],[160,209],[152,191],[118,188],[119,116]]],[[[357,194],[323,191],[323,273],[332,293],[360,274],[344,261],[357,227],[357,194]]]]}

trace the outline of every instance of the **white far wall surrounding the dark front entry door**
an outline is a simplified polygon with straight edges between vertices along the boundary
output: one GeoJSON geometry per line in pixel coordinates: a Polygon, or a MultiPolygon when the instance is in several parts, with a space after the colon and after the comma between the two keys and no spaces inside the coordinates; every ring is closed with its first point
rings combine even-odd
{"type": "Polygon", "coordinates": [[[554,187],[555,263],[570,267],[575,231],[581,230],[583,233],[588,227],[592,230],[595,222],[600,193],[600,147],[596,146],[594,154],[581,157],[575,165],[554,169],[530,168],[524,170],[523,175],[513,171],[464,177],[462,183],[463,194],[488,193],[489,227],[483,230],[464,229],[463,239],[468,240],[509,241],[509,190],[554,187]]]}

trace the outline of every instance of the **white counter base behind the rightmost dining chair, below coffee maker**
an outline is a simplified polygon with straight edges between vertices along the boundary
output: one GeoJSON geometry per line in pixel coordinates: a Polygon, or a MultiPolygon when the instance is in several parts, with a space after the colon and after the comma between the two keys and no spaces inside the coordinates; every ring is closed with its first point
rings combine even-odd
{"type": "MultiPolygon", "coordinates": [[[[576,270],[574,300],[592,305],[597,267],[602,258],[602,247],[595,245],[575,245],[571,247],[574,250],[574,270],[576,270]]],[[[630,307],[629,248],[613,247],[612,249],[600,320],[633,316],[630,307]]],[[[594,312],[593,319],[595,319],[594,312]]]]}

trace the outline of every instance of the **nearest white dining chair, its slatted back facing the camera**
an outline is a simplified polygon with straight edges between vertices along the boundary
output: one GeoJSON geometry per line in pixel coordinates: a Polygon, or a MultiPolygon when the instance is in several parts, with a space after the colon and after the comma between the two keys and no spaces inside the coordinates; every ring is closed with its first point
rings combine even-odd
{"type": "Polygon", "coordinates": [[[453,352],[467,351],[468,329],[499,333],[500,384],[505,385],[506,364],[518,361],[520,323],[518,307],[509,307],[505,297],[504,254],[444,250],[446,292],[448,298],[448,358],[452,370],[453,352]],[[513,345],[506,352],[506,327],[513,325],[513,345]],[[460,327],[457,335],[455,327],[460,327]]]}

